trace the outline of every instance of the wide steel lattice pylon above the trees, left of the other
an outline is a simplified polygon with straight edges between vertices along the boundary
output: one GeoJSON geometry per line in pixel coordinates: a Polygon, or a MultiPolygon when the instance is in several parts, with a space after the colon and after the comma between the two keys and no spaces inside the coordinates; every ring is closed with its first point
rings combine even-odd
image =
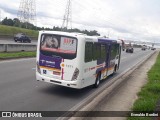
{"type": "Polygon", "coordinates": [[[28,23],[36,25],[35,0],[21,0],[17,17],[21,22],[26,24],[26,28],[28,28],[28,23]]]}

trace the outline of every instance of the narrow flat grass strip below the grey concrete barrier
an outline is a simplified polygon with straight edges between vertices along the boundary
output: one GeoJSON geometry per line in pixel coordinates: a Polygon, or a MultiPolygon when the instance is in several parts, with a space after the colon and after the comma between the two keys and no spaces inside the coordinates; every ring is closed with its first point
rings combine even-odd
{"type": "Polygon", "coordinates": [[[1,59],[12,59],[12,58],[23,58],[23,57],[35,57],[36,52],[10,52],[10,53],[0,53],[1,59]]]}

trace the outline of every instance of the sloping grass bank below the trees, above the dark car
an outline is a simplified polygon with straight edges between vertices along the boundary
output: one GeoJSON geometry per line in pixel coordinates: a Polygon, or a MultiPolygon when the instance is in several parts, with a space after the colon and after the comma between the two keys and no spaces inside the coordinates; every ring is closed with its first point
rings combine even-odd
{"type": "Polygon", "coordinates": [[[36,30],[29,30],[29,29],[24,29],[19,27],[0,25],[0,35],[14,36],[17,33],[25,33],[26,35],[34,38],[38,37],[38,31],[36,30]]]}

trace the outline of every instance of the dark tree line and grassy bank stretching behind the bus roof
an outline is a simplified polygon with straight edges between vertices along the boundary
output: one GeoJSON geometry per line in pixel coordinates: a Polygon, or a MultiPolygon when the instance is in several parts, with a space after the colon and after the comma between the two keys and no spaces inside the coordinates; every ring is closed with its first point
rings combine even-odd
{"type": "Polygon", "coordinates": [[[65,32],[79,32],[84,33],[89,36],[100,36],[98,31],[96,30],[80,30],[78,28],[61,28],[58,26],[53,26],[52,28],[44,28],[44,27],[38,27],[28,22],[21,22],[18,18],[4,18],[2,22],[0,22],[0,35],[10,35],[13,36],[16,33],[25,33],[30,37],[38,37],[38,31],[39,30],[51,30],[51,31],[65,31],[65,32]]]}

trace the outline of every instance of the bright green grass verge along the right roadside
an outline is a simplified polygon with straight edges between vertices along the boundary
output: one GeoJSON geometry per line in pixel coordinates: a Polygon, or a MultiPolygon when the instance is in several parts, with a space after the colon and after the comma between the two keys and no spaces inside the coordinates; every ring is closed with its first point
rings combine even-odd
{"type": "MultiPolygon", "coordinates": [[[[148,83],[138,93],[132,111],[155,111],[160,100],[160,53],[148,72],[148,83]]],[[[128,117],[128,120],[151,120],[152,117],[128,117]]]]}

